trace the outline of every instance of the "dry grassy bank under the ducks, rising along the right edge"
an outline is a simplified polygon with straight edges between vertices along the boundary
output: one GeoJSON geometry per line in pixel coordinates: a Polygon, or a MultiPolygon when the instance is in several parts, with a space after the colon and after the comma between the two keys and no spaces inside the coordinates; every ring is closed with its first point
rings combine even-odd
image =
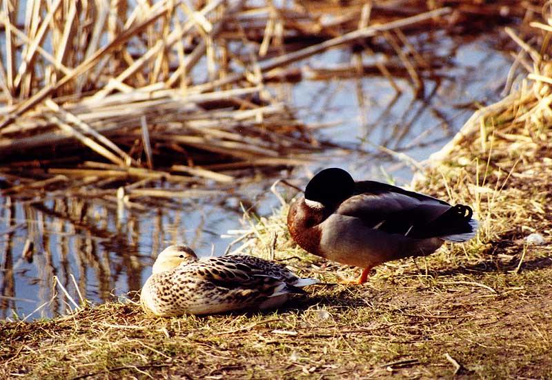
{"type": "MultiPolygon", "coordinates": [[[[534,27],[549,36],[549,26],[534,27]]],[[[548,41],[524,46],[520,59],[533,61],[519,91],[478,111],[415,181],[417,190],[472,205],[482,225],[476,239],[377,267],[365,286],[317,285],[267,314],[146,319],[127,300],[2,323],[0,377],[552,377],[548,41]],[[533,232],[544,245],[526,242],[533,232]]],[[[285,213],[250,219],[234,249],[286,260],[328,283],[357,270],[298,249],[285,213]]]]}

